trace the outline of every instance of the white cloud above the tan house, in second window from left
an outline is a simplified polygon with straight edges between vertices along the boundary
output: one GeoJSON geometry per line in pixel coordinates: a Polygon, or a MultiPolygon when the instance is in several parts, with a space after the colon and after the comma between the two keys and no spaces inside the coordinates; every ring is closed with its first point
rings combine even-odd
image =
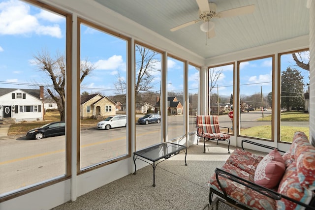
{"type": "Polygon", "coordinates": [[[126,69],[126,64],[122,56],[114,55],[107,60],[98,60],[95,62],[96,69],[116,70],[119,68],[126,69]]]}

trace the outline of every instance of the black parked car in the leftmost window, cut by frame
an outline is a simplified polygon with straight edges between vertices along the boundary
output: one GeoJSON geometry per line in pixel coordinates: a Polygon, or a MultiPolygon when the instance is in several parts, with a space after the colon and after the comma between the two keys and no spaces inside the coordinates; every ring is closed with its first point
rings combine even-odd
{"type": "Polygon", "coordinates": [[[41,127],[29,130],[26,137],[31,139],[42,139],[49,136],[61,136],[65,134],[65,122],[51,122],[41,127]]]}

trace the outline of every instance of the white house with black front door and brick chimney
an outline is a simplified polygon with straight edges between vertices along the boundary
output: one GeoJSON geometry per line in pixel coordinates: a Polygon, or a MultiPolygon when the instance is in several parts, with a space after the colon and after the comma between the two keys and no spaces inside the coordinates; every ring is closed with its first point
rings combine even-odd
{"type": "Polygon", "coordinates": [[[0,119],[43,120],[44,87],[39,89],[0,88],[0,119]]]}

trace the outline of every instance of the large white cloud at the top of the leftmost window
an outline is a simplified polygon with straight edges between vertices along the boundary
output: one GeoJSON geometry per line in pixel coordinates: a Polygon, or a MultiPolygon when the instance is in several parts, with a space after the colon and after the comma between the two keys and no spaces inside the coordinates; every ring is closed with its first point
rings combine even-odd
{"type": "Polygon", "coordinates": [[[0,3],[0,34],[29,35],[32,33],[50,35],[57,38],[62,37],[61,29],[58,25],[41,25],[38,19],[30,14],[30,5],[17,0],[0,3]]]}

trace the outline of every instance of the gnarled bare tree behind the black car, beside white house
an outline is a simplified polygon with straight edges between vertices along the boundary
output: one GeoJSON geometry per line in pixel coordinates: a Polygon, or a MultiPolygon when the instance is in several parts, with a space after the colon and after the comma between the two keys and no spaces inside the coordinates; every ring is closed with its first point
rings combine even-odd
{"type": "MultiPolygon", "coordinates": [[[[64,108],[65,108],[65,75],[66,75],[66,65],[65,57],[57,52],[56,57],[52,58],[47,51],[42,51],[33,56],[34,64],[37,65],[40,71],[45,72],[52,85],[47,84],[45,89],[50,97],[52,97],[58,106],[58,111],[60,113],[60,120],[64,121],[64,108]]],[[[80,64],[80,83],[83,79],[89,75],[95,66],[88,62],[88,60],[83,60],[80,64]]]]}

